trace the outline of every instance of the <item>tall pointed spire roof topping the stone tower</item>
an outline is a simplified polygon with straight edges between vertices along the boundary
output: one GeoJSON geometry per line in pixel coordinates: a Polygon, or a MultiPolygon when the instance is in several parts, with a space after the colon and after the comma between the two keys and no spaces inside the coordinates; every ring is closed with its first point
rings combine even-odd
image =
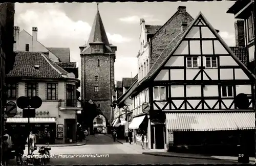
{"type": "Polygon", "coordinates": [[[106,36],[106,32],[103,26],[102,19],[99,14],[99,4],[97,3],[97,13],[93,21],[92,30],[88,39],[89,43],[104,43],[105,45],[110,45],[108,37],[106,36]]]}

